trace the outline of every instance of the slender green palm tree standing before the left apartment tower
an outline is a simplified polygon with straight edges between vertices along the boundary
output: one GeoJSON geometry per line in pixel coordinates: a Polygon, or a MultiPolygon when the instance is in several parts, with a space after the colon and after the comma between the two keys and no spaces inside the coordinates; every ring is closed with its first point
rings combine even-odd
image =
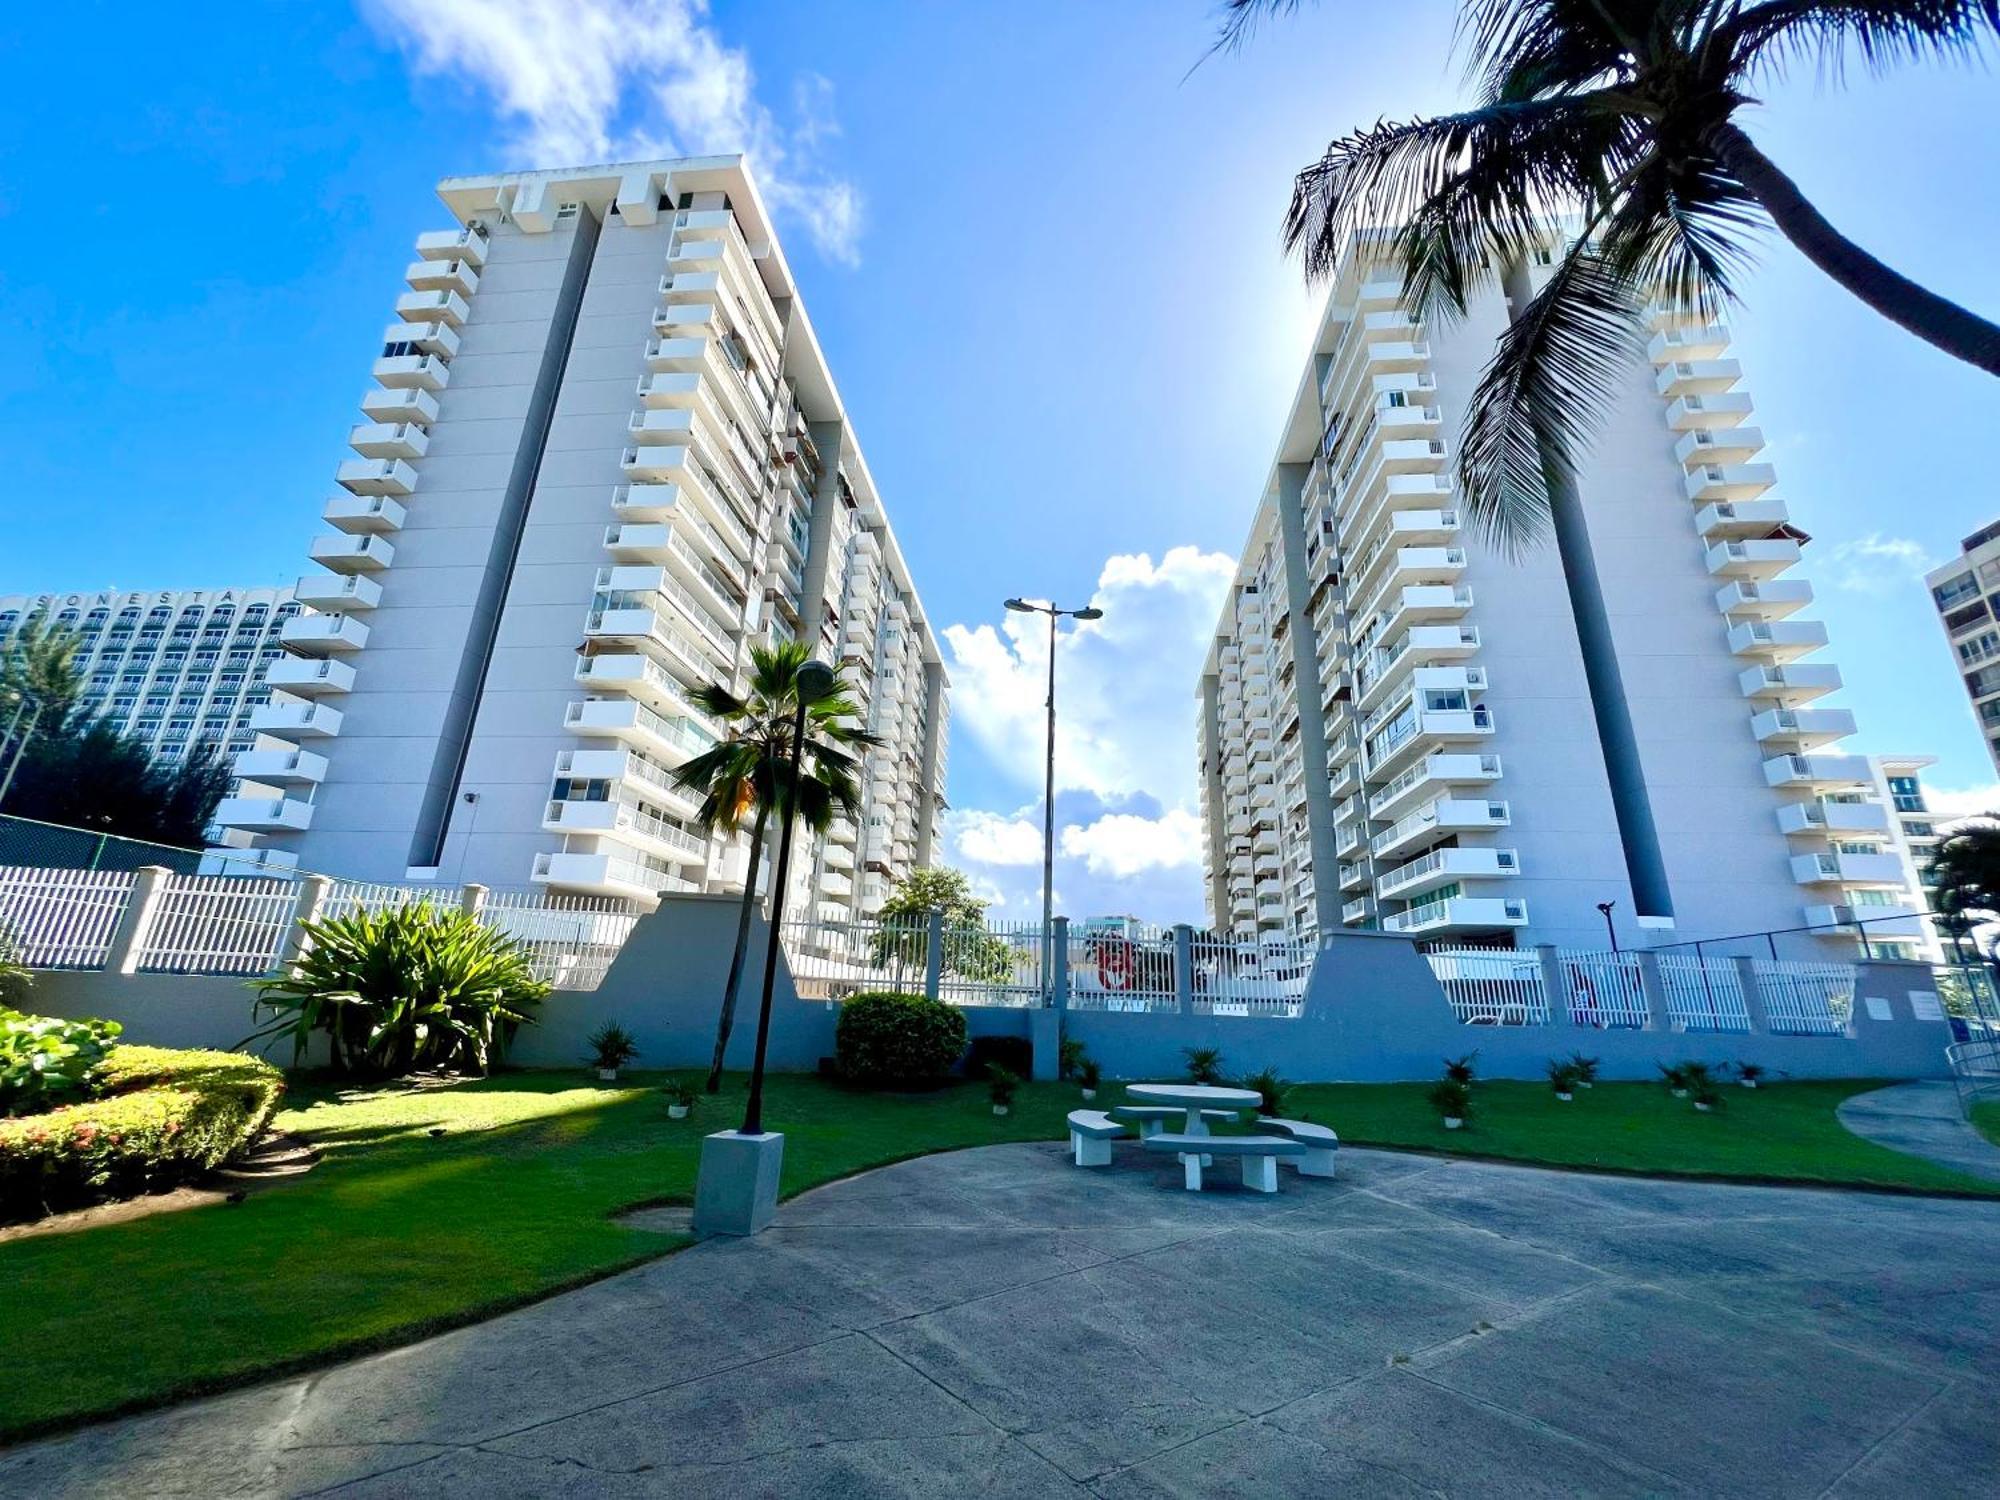
{"type": "MultiPolygon", "coordinates": [[[[738,698],[728,688],[702,686],[690,698],[710,718],[726,724],[730,734],[710,750],[688,760],[674,778],[702,794],[696,814],[706,828],[736,832],[750,818],[750,864],[744,870],[744,902],[736,918],[736,950],[730,954],[730,978],[722,988],[722,1016],[716,1022],[716,1054],[708,1066],[708,1092],[722,1088],[722,1054],[736,1024],[736,990],[742,986],[744,958],[750,952],[750,914],[756,910],[756,876],[764,858],[764,830],[770,814],[784,812],[788,794],[786,768],[792,760],[792,720],[798,714],[798,670],[812,652],[796,642],[750,650],[750,692],[738,698]]],[[[826,832],[836,814],[854,816],[860,806],[856,788],[858,760],[852,750],[882,744],[852,720],[860,716],[848,686],[836,676],[828,694],[806,704],[806,740],[800,760],[798,822],[814,832],[826,832]]]]}

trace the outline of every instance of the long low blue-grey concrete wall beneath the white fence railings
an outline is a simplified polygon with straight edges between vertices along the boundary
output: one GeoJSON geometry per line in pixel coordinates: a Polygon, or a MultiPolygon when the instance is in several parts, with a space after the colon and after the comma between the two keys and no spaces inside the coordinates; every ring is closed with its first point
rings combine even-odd
{"type": "MultiPolygon", "coordinates": [[[[616,1020],[638,1038],[638,1066],[706,1066],[736,910],[728,896],[664,902],[638,922],[594,992],[556,992],[542,1022],[520,1032],[510,1060],[576,1066],[590,1032],[616,1020]]],[[[756,1046],[768,932],[762,920],[752,926],[730,1068],[748,1068],[756,1046]]],[[[1936,980],[1924,964],[1862,964],[1846,1036],[1462,1026],[1410,942],[1342,934],[1322,950],[1296,1020],[968,1006],[966,1026],[974,1036],[1034,1036],[1038,1072],[1046,1074],[1060,1024],[1114,1078],[1180,1076],[1182,1050],[1190,1046],[1222,1048],[1232,1072],[1272,1066],[1300,1082],[1434,1078],[1446,1056],[1474,1048],[1488,1078],[1540,1078],[1550,1058],[1570,1052],[1602,1058],[1604,1078],[1654,1078],[1658,1064],[1680,1060],[1760,1062],[1798,1078],[1946,1078],[1950,1028],[1942,1020],[1916,1020],[1910,1004],[1912,992],[1926,990],[1936,990],[1936,980]],[[1870,996],[1888,1006],[1888,1018],[1870,1014],[1870,996]]],[[[232,1046],[252,1028],[250,992],[232,978],[44,972],[36,976],[32,1006],[58,1016],[110,1016],[126,1024],[128,1040],[164,1046],[232,1046]]],[[[810,1072],[832,1056],[836,1016],[834,1004],[800,1000],[790,970],[780,966],[770,1066],[810,1072]]]]}

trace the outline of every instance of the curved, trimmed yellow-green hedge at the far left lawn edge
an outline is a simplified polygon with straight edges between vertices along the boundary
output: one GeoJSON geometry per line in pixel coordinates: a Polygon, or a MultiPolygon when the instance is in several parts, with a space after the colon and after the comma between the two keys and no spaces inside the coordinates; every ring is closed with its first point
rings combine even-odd
{"type": "Polygon", "coordinates": [[[238,1052],[120,1046],[104,1094],[0,1120],[0,1220],[172,1188],[220,1166],[270,1122],[284,1074],[238,1052]]]}

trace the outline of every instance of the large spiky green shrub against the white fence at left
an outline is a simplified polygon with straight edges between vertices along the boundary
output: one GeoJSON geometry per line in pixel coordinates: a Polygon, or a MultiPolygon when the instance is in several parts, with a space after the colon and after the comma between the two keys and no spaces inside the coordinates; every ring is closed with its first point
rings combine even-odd
{"type": "Polygon", "coordinates": [[[290,1036],[294,1062],[324,1032],[346,1072],[486,1072],[506,1034],[548,998],[526,948],[468,912],[414,902],[304,932],[310,948],[288,974],[250,982],[252,1014],[272,1020],[248,1040],[290,1036]]]}

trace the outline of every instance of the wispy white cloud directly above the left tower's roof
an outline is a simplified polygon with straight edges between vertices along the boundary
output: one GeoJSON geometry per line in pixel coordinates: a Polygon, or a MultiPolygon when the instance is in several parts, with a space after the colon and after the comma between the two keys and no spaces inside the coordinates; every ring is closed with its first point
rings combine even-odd
{"type": "Polygon", "coordinates": [[[854,264],[860,194],[820,164],[840,134],[832,84],[794,86],[794,120],[756,98],[750,58],[722,44],[706,0],[368,0],[418,76],[492,98],[516,166],[744,152],[774,212],[854,264]]]}

